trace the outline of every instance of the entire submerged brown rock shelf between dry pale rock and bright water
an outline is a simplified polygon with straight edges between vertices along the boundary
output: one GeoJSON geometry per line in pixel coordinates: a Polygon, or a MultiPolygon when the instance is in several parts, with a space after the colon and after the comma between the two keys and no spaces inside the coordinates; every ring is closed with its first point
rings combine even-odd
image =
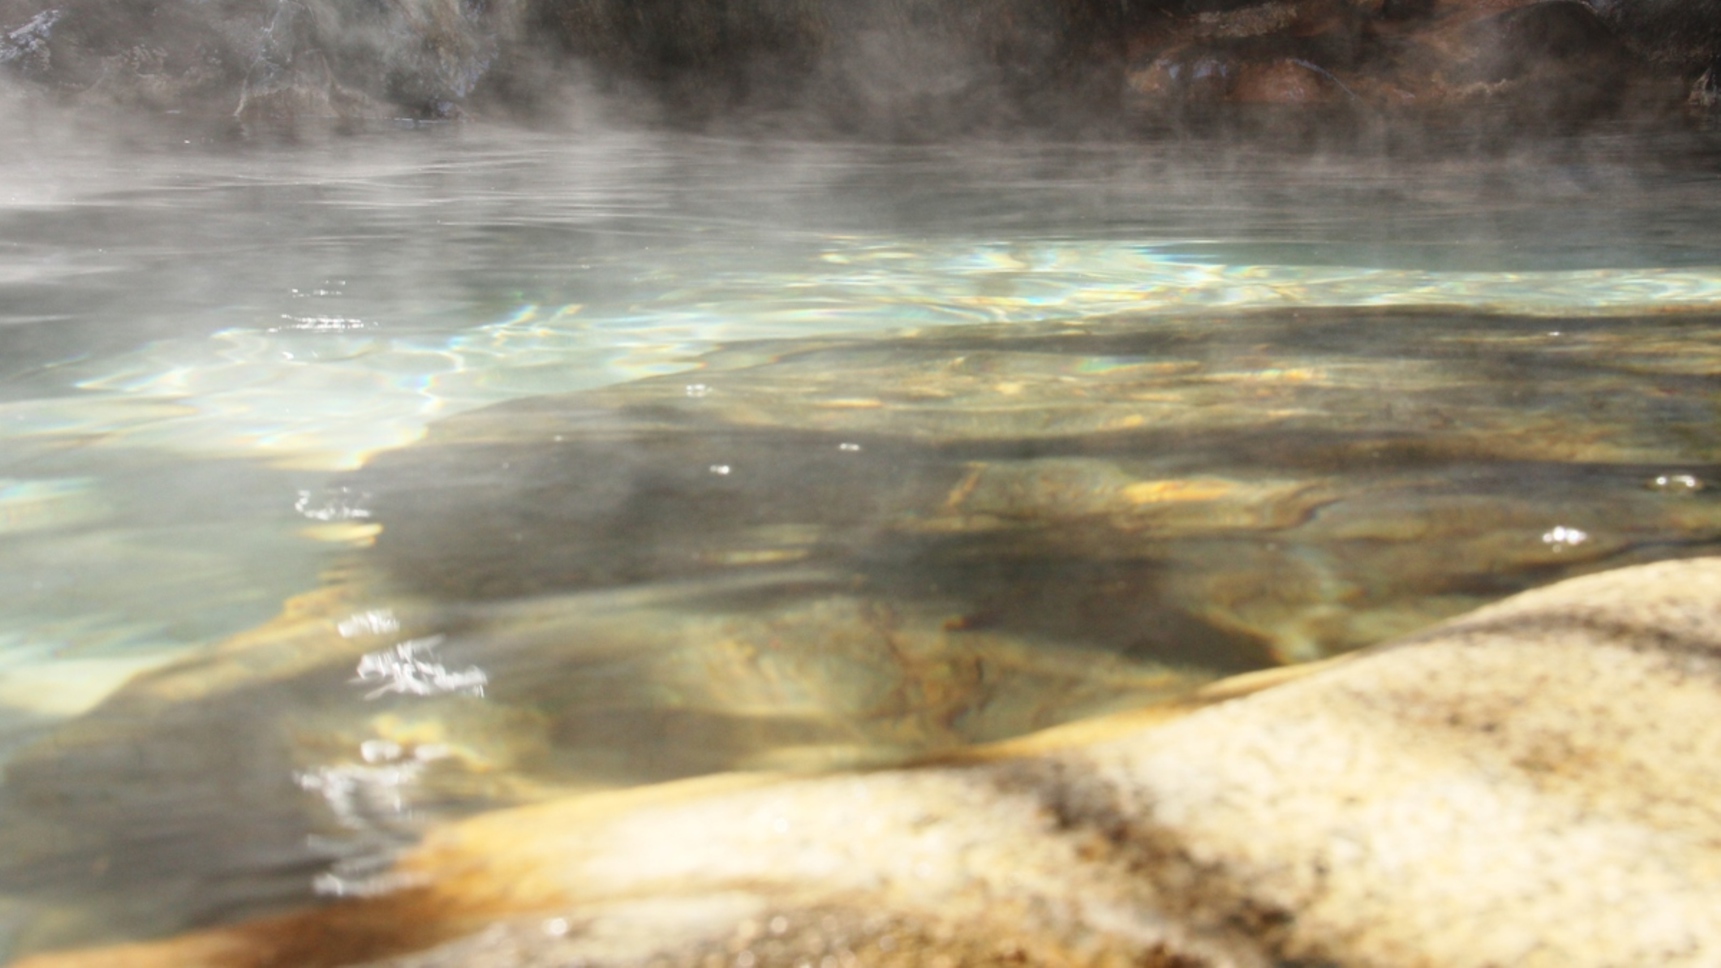
{"type": "Polygon", "coordinates": [[[1712,553],[1718,331],[761,341],[453,417],[330,491],[382,531],[327,591],[19,753],[5,880],[65,899],[26,946],[387,890],[437,816],[897,763],[1712,553]]]}

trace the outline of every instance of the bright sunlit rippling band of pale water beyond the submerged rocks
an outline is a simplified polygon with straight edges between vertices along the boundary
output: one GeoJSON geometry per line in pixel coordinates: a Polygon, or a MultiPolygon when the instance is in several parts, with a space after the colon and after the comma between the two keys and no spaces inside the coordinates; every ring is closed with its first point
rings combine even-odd
{"type": "MultiPolygon", "coordinates": [[[[108,424],[107,446],[336,470],[418,439],[437,417],[676,372],[742,339],[1215,308],[1437,305],[1616,315],[1718,301],[1721,267],[1434,272],[1201,264],[1127,243],[964,250],[830,239],[807,265],[730,272],[611,310],[521,305],[470,331],[399,334],[318,315],[301,326],[158,341],[88,365],[76,386],[96,400],[177,410],[108,424]]],[[[88,396],[36,403],[28,419],[0,424],[0,439],[83,431],[89,406],[88,396]]]]}

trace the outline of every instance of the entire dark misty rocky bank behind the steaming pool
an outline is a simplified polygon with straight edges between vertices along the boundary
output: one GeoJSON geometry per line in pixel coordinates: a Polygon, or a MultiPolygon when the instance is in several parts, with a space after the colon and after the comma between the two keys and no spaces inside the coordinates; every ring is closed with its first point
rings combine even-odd
{"type": "Polygon", "coordinates": [[[1716,100],[1718,52],[1721,0],[0,0],[12,91],[241,119],[554,114],[583,81],[902,136],[1115,115],[1132,69],[1174,102],[1582,114],[1618,98],[1558,88],[1633,72],[1716,100]]]}

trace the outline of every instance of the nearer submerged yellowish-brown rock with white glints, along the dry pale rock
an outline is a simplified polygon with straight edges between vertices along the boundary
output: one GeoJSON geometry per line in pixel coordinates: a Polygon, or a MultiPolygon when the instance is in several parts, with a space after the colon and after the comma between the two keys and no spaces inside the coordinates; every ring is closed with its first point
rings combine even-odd
{"type": "Polygon", "coordinates": [[[1175,701],[1196,665],[959,627],[848,582],[487,606],[348,587],[143,675],[15,751],[0,892],[22,947],[365,896],[434,818],[737,768],[900,763],[1175,701]]]}

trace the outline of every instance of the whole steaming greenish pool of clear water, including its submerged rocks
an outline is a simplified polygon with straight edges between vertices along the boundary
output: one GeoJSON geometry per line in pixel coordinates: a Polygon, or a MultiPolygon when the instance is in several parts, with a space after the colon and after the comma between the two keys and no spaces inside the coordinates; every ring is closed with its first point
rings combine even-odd
{"type": "Polygon", "coordinates": [[[996,739],[1721,536],[1699,136],[21,131],[15,951],[386,889],[435,816],[996,739]],[[217,651],[305,594],[322,632],[217,651]]]}

